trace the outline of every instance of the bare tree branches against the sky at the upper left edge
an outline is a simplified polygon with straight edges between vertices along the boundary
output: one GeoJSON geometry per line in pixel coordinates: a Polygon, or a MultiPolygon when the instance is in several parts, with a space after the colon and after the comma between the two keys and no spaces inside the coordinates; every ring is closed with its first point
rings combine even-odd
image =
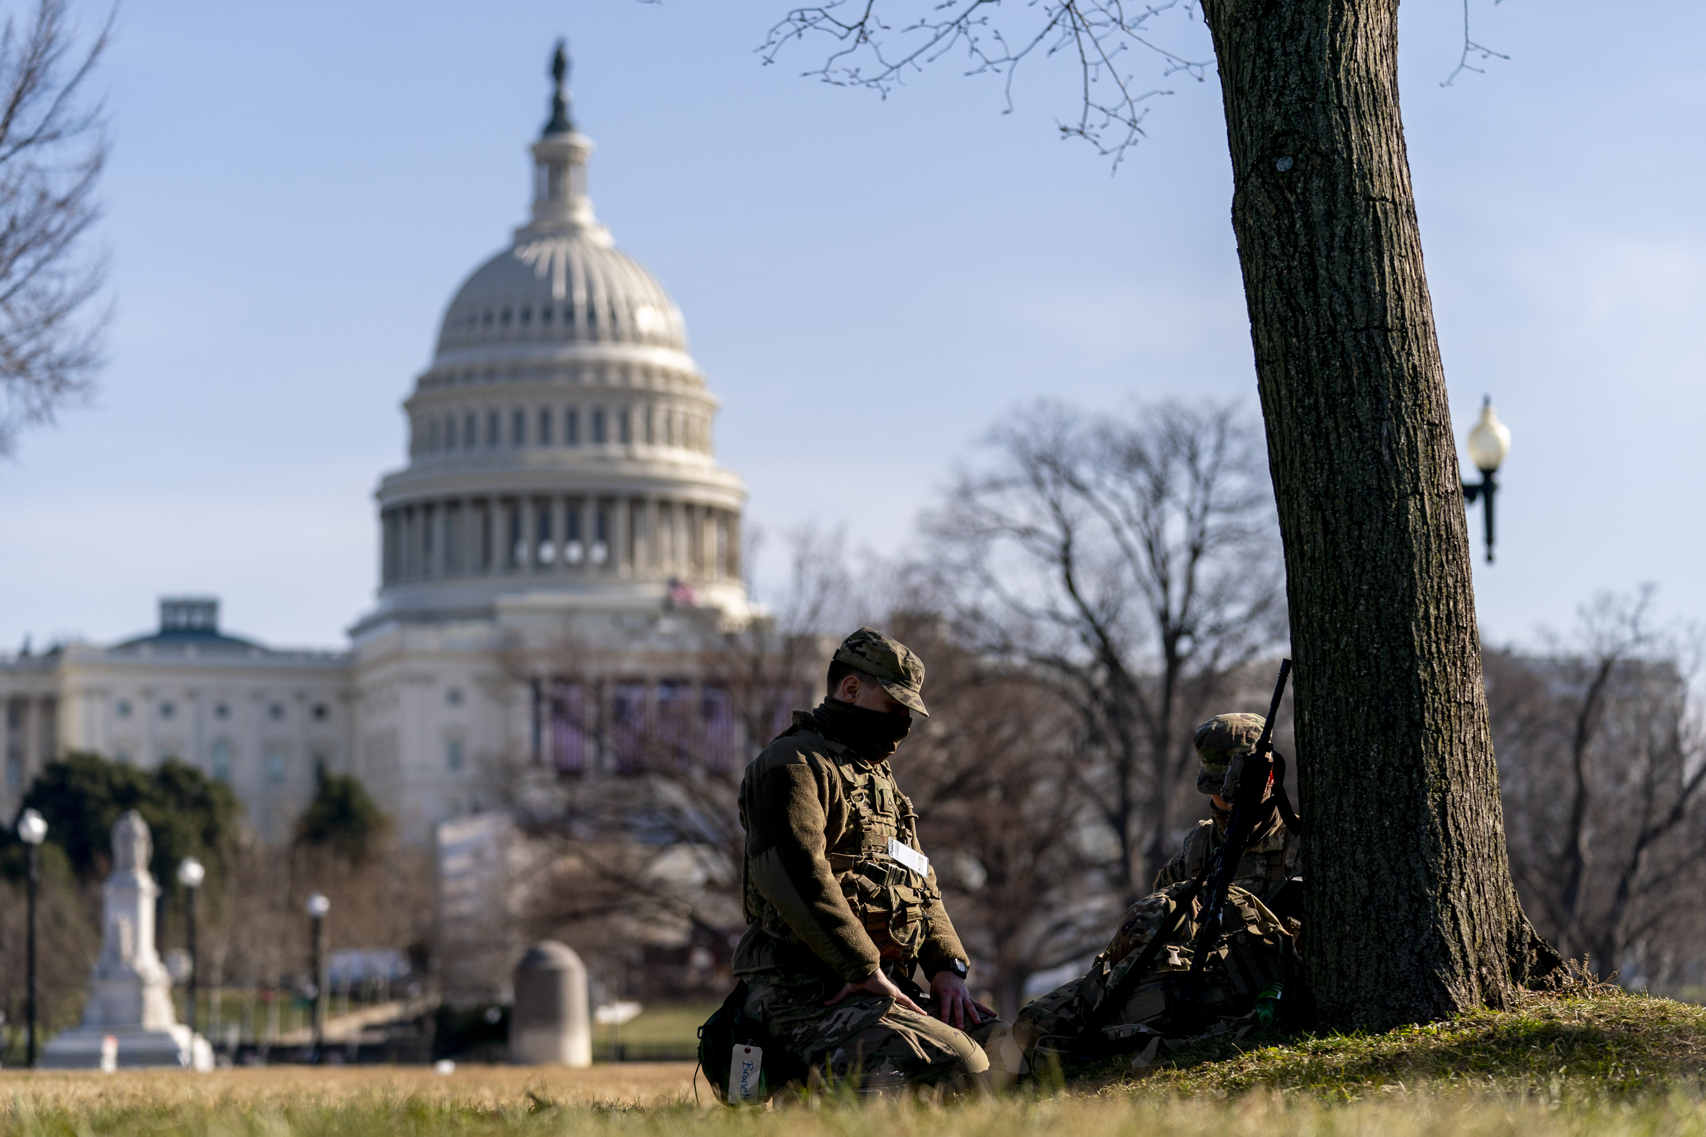
{"type": "Polygon", "coordinates": [[[85,394],[102,363],[106,314],[90,307],[107,266],[87,239],[107,141],[87,85],[114,15],[87,49],[65,0],[0,27],[0,453],[85,394]]]}

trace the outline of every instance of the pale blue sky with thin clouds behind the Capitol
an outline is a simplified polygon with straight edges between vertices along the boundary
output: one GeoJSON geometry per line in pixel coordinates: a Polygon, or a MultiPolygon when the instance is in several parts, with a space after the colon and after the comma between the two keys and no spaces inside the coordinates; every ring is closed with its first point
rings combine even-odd
{"type": "MultiPolygon", "coordinates": [[[[397,404],[524,216],[558,34],[599,215],[682,307],[766,530],[904,552],[955,462],[1042,394],[1254,407],[1213,77],[1165,80],[1111,176],[1056,136],[1065,63],[1020,72],[1012,114],[952,60],[884,101],[800,78],[812,48],[761,66],[785,7],[128,3],[101,77],[113,361],[0,465],[0,644],[147,629],[172,592],[270,643],[341,643],[372,602],[397,404]]],[[[1411,0],[1401,68],[1459,436],[1483,392],[1515,435],[1496,566],[1472,518],[1483,627],[1527,641],[1641,581],[1706,619],[1706,9],[1471,10],[1508,61],[1442,87],[1462,9],[1411,0]]],[[[1198,22],[1167,36],[1208,55],[1198,22]]]]}

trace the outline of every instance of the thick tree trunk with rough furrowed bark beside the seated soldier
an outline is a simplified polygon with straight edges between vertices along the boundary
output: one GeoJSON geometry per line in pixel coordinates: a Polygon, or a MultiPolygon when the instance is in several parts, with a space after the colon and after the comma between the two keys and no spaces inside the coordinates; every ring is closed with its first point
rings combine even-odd
{"type": "Polygon", "coordinates": [[[1322,1024],[1556,965],[1517,902],[1397,99],[1397,0],[1204,0],[1285,540],[1322,1024]]]}

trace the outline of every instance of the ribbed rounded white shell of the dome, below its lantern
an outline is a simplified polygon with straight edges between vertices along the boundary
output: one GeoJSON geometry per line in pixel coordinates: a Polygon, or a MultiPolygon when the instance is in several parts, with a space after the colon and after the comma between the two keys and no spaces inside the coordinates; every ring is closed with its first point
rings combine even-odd
{"type": "Polygon", "coordinates": [[[524,228],[457,290],[438,353],[525,343],[686,351],[688,329],[664,286],[602,230],[524,228]]]}

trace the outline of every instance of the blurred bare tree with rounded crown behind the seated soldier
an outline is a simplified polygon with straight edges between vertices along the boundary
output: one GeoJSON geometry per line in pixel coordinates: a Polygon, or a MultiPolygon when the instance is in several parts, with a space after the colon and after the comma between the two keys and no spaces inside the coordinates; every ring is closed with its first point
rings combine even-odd
{"type": "Polygon", "coordinates": [[[1088,799],[1145,895],[1191,793],[1191,733],[1283,641],[1262,442],[1233,407],[1037,404],[928,520],[954,617],[1073,711],[1088,799]]]}

